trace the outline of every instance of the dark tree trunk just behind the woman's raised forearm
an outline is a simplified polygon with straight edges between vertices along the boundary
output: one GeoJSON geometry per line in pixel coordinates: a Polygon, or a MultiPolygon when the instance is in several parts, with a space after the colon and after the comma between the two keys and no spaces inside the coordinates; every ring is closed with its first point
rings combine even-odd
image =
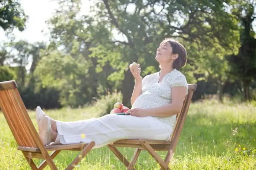
{"type": "Polygon", "coordinates": [[[122,96],[123,101],[122,103],[126,106],[131,108],[131,97],[134,87],[134,78],[132,76],[131,71],[128,69],[127,71],[124,71],[124,80],[122,82],[122,96]]]}

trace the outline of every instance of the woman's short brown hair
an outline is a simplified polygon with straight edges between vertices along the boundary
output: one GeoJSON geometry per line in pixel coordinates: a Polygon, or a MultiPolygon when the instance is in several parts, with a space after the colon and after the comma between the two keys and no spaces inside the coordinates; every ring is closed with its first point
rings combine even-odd
{"type": "Polygon", "coordinates": [[[173,62],[173,69],[179,70],[180,68],[184,67],[187,63],[187,50],[181,43],[171,38],[163,39],[160,46],[166,42],[168,42],[172,47],[172,53],[178,54],[178,58],[173,62]]]}

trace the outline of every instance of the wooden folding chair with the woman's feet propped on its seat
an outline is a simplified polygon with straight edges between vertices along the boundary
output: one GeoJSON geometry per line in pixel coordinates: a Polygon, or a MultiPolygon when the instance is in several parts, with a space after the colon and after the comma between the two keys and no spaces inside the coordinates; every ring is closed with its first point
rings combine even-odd
{"type": "Polygon", "coordinates": [[[57,170],[53,158],[61,150],[81,151],[67,167],[67,170],[74,169],[81,159],[95,146],[94,142],[88,144],[77,143],[44,146],[27,113],[15,81],[0,82],[0,108],[18,143],[18,150],[22,151],[32,170],[42,170],[47,165],[50,166],[50,169],[57,170]],[[49,154],[48,151],[53,152],[49,154]],[[43,159],[44,162],[37,167],[32,158],[43,159]]]}

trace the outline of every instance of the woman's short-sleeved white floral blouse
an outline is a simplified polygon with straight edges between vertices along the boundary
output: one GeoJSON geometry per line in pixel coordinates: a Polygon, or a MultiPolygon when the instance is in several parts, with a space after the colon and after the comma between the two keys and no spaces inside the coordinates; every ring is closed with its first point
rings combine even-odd
{"type": "MultiPolygon", "coordinates": [[[[171,101],[171,88],[173,86],[184,86],[188,90],[186,77],[178,70],[165,75],[163,80],[159,82],[159,72],[147,75],[142,80],[142,94],[134,101],[132,108],[157,108],[171,101]]],[[[155,117],[156,119],[174,126],[176,123],[176,115],[170,117],[155,117]]]]}

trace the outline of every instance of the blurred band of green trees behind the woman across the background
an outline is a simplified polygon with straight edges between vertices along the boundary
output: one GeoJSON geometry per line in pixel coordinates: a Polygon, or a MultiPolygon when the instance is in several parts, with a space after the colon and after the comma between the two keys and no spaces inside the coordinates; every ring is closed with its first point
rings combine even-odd
{"type": "MultiPolygon", "coordinates": [[[[134,80],[157,72],[156,49],[164,38],[188,51],[181,72],[197,83],[193,100],[217,96],[256,100],[256,3],[253,0],[95,0],[90,15],[80,0],[57,0],[47,21],[49,42],[0,43],[0,81],[15,80],[29,109],[79,107],[120,92],[130,107],[134,80]]],[[[0,3],[0,27],[26,29],[18,1],[0,3]]]]}

